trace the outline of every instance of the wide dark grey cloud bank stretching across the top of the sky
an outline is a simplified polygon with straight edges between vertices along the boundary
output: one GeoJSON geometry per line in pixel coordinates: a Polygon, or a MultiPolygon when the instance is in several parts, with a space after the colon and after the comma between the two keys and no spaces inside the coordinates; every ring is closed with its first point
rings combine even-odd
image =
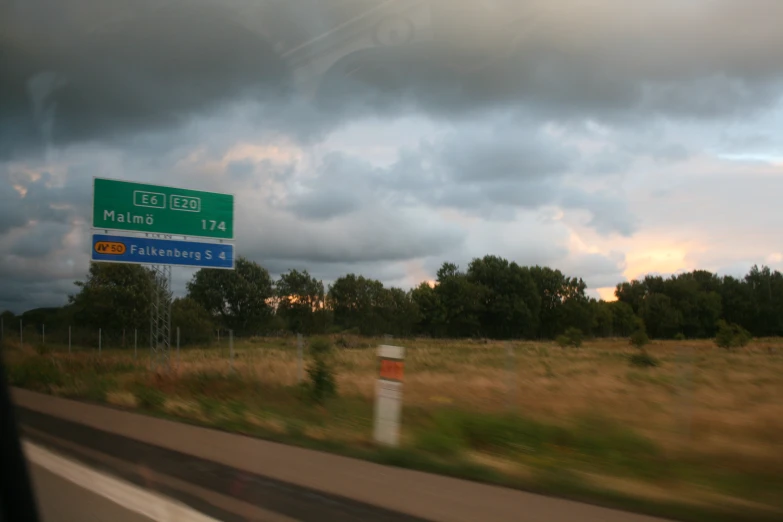
{"type": "Polygon", "coordinates": [[[259,125],[312,136],[368,113],[512,105],[546,118],[710,118],[780,93],[777,0],[433,0],[431,37],[349,53],[351,38],[382,40],[383,17],[366,15],[379,3],[6,2],[0,153],[171,127],[242,98],[264,103],[259,125]],[[313,106],[292,67],[326,49],[346,54],[313,80],[313,106]]]}

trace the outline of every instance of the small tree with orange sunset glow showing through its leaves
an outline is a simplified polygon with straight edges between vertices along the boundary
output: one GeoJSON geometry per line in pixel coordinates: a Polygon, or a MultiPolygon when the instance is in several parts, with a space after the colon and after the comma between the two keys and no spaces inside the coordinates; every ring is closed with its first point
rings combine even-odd
{"type": "Polygon", "coordinates": [[[326,331],[324,284],[307,270],[289,270],[275,283],[277,315],[294,332],[313,334],[326,331]]]}

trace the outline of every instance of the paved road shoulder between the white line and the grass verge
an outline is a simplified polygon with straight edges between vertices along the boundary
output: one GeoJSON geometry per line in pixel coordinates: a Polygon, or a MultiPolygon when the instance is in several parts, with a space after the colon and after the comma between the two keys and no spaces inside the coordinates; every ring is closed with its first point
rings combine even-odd
{"type": "Polygon", "coordinates": [[[654,522],[14,390],[25,436],[218,520],[654,522]]]}

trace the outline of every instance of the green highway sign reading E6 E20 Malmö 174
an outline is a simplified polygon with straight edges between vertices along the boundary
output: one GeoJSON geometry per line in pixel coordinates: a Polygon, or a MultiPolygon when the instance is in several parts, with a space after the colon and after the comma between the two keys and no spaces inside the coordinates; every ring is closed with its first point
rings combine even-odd
{"type": "Polygon", "coordinates": [[[95,178],[92,226],[234,239],[234,196],[95,178]]]}

